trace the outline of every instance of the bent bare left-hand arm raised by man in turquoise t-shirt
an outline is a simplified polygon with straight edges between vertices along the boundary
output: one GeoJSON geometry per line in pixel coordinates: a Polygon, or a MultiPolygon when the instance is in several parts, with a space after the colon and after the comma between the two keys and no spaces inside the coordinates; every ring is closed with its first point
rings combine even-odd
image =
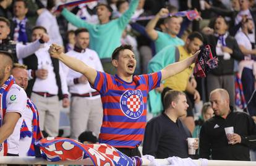
{"type": "Polygon", "coordinates": [[[169,10],[162,8],[158,14],[154,17],[154,19],[150,20],[146,26],[146,31],[150,39],[156,40],[158,38],[158,33],[155,30],[156,23],[161,17],[166,17],[169,14],[169,10]]]}

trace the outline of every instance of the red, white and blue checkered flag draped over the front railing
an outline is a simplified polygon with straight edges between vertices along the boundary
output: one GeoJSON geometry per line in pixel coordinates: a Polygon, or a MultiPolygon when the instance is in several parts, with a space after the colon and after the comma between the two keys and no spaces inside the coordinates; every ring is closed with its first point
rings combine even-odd
{"type": "Polygon", "coordinates": [[[36,142],[41,157],[49,161],[83,160],[87,157],[96,165],[142,165],[140,157],[127,157],[108,144],[82,144],[69,138],[43,138],[36,142]]]}

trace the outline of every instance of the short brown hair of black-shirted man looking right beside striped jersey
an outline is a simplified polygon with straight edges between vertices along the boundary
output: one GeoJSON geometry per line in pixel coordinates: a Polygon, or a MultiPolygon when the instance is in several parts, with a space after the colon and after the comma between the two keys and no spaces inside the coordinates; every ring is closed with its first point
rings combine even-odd
{"type": "Polygon", "coordinates": [[[179,98],[179,95],[185,95],[186,94],[182,91],[177,91],[177,90],[169,90],[164,94],[164,99],[163,99],[163,105],[164,105],[164,110],[168,109],[169,106],[171,105],[171,102],[177,101],[179,98]]]}

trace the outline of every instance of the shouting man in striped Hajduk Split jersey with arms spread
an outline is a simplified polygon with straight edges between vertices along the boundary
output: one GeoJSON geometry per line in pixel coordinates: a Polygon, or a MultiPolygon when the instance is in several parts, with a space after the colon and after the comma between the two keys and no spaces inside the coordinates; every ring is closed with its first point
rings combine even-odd
{"type": "Polygon", "coordinates": [[[51,45],[49,54],[85,75],[92,88],[100,92],[103,123],[99,143],[110,144],[127,156],[140,156],[138,146],[145,131],[148,92],[157,88],[161,80],[189,67],[197,59],[198,52],[159,72],[146,75],[133,75],[136,60],[130,45],[119,46],[112,54],[116,75],[98,72],[80,60],[67,56],[57,44],[51,45]]]}

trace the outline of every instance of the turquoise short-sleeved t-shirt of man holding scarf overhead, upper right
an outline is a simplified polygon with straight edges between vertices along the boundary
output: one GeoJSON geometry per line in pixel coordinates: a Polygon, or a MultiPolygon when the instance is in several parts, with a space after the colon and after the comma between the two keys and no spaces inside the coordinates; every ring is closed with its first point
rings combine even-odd
{"type": "Polygon", "coordinates": [[[177,36],[173,38],[168,33],[163,33],[161,31],[157,31],[158,38],[155,40],[156,53],[161,51],[166,46],[183,46],[185,43],[182,39],[177,36]]]}

